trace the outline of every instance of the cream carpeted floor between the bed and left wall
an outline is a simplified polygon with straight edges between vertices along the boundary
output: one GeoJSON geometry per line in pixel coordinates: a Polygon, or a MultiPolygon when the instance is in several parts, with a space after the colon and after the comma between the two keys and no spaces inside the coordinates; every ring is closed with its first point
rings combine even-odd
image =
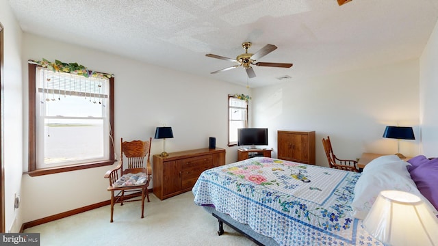
{"type": "Polygon", "coordinates": [[[48,245],[255,245],[224,224],[218,236],[218,220],[193,203],[192,191],[160,201],[150,195],[140,219],[140,202],[110,206],[28,228],[40,233],[42,246],[48,245]]]}

